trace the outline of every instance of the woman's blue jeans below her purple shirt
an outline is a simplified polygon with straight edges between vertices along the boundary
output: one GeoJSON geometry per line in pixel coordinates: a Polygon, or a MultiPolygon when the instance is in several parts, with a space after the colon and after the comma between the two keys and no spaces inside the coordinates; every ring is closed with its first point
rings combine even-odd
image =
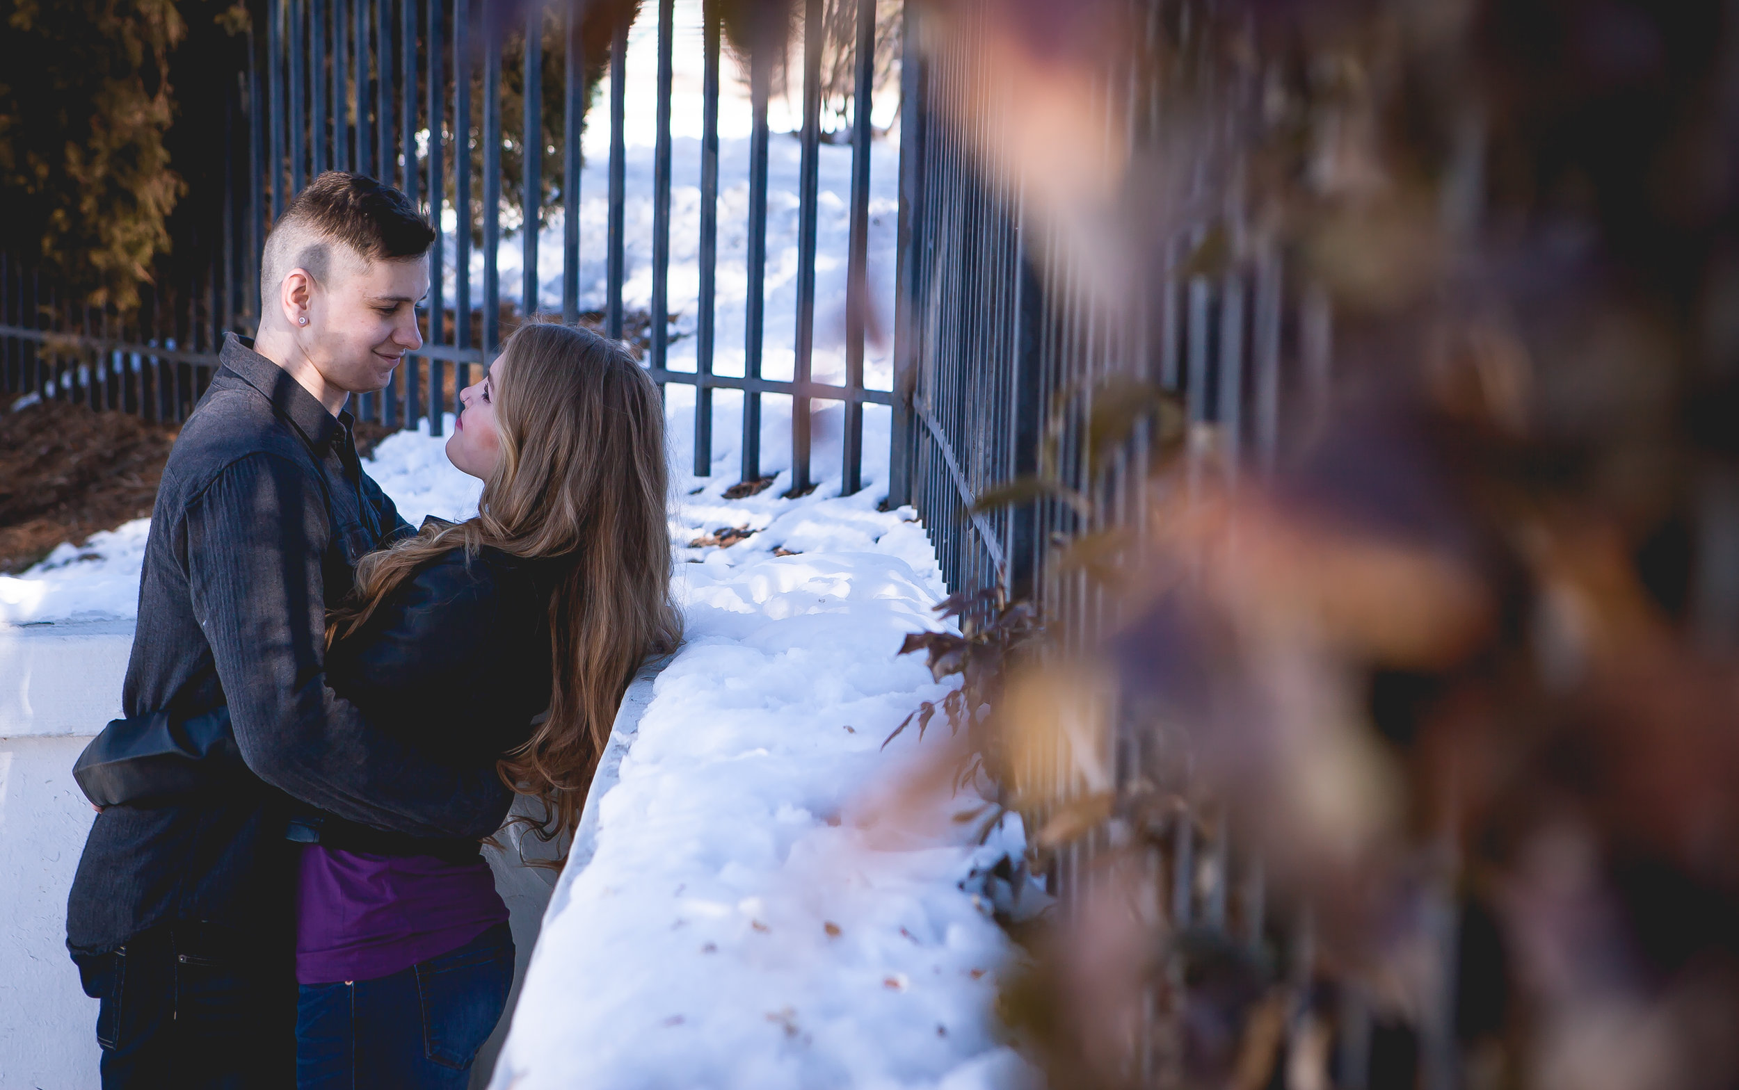
{"type": "Polygon", "coordinates": [[[303,984],[296,1085],[463,1090],[511,986],[513,932],[506,923],[390,977],[303,984]]]}

